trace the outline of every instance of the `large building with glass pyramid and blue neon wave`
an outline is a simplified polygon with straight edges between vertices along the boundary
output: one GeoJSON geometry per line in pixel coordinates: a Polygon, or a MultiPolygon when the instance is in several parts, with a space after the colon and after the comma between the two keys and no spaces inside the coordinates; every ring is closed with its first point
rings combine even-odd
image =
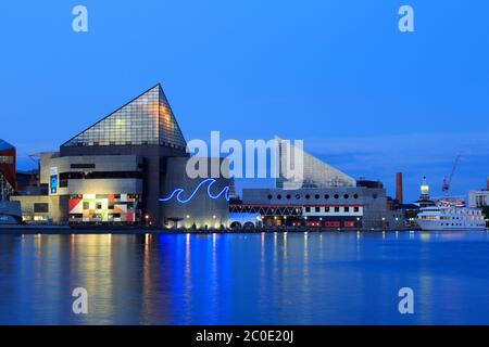
{"type": "Polygon", "coordinates": [[[151,224],[216,228],[228,224],[229,182],[186,175],[187,143],[161,85],[42,153],[40,187],[17,194],[26,221],[71,224],[151,224]],[[211,183],[211,182],[209,182],[211,183]],[[181,194],[177,194],[181,191],[181,194]],[[162,201],[163,197],[171,198],[162,201]],[[179,198],[191,196],[190,201],[179,198]]]}

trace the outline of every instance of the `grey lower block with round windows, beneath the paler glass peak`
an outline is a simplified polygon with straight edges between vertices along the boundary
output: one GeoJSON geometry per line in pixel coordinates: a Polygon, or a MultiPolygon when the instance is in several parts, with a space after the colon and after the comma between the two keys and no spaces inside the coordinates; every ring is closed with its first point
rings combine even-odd
{"type": "MultiPolygon", "coordinates": [[[[380,184],[377,188],[359,185],[294,191],[244,189],[242,203],[230,206],[231,223],[240,219],[239,214],[250,214],[250,216],[256,214],[259,215],[256,224],[272,228],[393,229],[405,227],[401,213],[387,209],[386,190],[380,184]]],[[[239,223],[242,227],[242,221],[239,223]]]]}

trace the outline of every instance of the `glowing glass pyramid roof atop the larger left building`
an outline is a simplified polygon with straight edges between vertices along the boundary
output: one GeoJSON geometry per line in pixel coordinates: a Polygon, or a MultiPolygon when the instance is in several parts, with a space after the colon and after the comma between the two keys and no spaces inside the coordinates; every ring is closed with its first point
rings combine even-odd
{"type": "Polygon", "coordinates": [[[180,150],[187,146],[161,85],[96,123],[63,146],[146,144],[180,150]]]}

